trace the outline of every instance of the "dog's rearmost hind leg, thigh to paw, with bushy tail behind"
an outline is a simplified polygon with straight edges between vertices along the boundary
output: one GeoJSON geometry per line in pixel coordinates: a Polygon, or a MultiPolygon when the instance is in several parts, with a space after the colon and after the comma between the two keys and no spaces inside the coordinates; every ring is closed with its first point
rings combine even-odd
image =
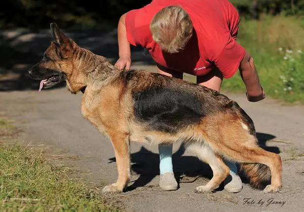
{"type": "Polygon", "coordinates": [[[241,163],[251,185],[260,188],[271,180],[264,192],[277,192],[282,187],[281,157],[258,146],[253,122],[244,114],[235,110],[204,118],[197,132],[218,155],[241,163]]]}

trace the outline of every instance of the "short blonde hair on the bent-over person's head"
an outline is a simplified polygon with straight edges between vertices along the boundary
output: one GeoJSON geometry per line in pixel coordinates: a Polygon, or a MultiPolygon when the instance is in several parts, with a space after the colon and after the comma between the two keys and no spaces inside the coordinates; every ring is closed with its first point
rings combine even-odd
{"type": "Polygon", "coordinates": [[[183,49],[192,36],[193,25],[189,15],[179,6],[159,11],[150,23],[153,39],[164,51],[176,53],[183,49]]]}

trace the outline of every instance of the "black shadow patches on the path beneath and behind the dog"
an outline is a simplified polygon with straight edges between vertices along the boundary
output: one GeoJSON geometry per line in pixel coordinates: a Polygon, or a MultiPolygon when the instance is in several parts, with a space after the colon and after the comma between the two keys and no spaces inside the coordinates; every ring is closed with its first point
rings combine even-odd
{"type": "MultiPolygon", "coordinates": [[[[256,137],[261,148],[270,152],[280,153],[280,149],[278,147],[266,145],[268,140],[274,139],[276,136],[265,133],[256,133],[256,137]]],[[[209,165],[200,161],[196,156],[183,155],[184,152],[185,148],[181,145],[172,155],[173,170],[177,181],[180,180],[180,175],[183,174],[188,177],[202,176],[208,179],[212,178],[212,170],[209,165]]],[[[116,162],[116,158],[109,158],[109,161],[109,163],[116,162]]],[[[138,174],[139,178],[135,180],[127,190],[131,191],[137,187],[145,186],[159,175],[159,163],[159,154],[151,152],[143,146],[139,151],[131,153],[131,170],[133,173],[138,174]]],[[[240,177],[242,178],[243,183],[248,183],[247,179],[242,174],[240,174],[240,177]]],[[[222,189],[222,186],[218,188],[218,190],[222,189]]]]}

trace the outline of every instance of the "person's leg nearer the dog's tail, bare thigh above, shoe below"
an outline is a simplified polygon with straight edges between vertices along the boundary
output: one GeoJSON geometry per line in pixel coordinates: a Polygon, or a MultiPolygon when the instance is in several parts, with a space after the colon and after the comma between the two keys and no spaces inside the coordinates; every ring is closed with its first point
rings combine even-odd
{"type": "MultiPolygon", "coordinates": [[[[220,86],[223,76],[218,69],[214,69],[205,76],[197,77],[197,83],[204,85],[208,88],[220,92],[220,86]]],[[[228,192],[239,192],[242,190],[243,185],[241,178],[238,176],[237,166],[234,162],[223,160],[223,162],[230,168],[230,175],[224,181],[224,189],[228,192]]]]}

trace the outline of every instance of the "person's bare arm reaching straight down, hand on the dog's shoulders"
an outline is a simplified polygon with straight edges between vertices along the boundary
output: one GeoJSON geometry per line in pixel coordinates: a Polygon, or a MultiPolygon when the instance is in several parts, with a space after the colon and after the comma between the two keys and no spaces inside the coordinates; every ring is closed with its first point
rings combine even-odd
{"type": "Polygon", "coordinates": [[[119,60],[115,66],[119,69],[126,67],[126,70],[130,70],[131,67],[131,50],[130,43],[127,39],[127,31],[125,25],[127,13],[121,16],[118,23],[118,46],[119,46],[119,60]]]}

